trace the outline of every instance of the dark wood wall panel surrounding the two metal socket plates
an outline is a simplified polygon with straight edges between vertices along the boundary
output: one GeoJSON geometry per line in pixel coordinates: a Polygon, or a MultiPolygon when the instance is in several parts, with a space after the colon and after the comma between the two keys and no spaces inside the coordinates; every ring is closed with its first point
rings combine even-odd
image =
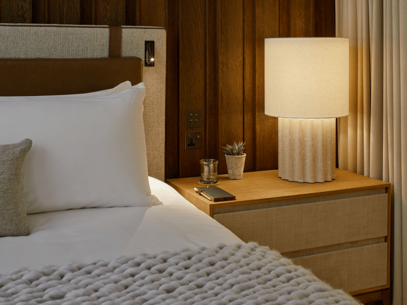
{"type": "MultiPolygon", "coordinates": [[[[205,139],[202,135],[202,149],[185,149],[185,111],[202,110],[206,117],[206,4],[203,1],[181,0],[179,9],[179,149],[180,177],[199,175],[199,160],[205,158],[205,139]]],[[[188,129],[205,130],[202,128],[188,129]]]]}

